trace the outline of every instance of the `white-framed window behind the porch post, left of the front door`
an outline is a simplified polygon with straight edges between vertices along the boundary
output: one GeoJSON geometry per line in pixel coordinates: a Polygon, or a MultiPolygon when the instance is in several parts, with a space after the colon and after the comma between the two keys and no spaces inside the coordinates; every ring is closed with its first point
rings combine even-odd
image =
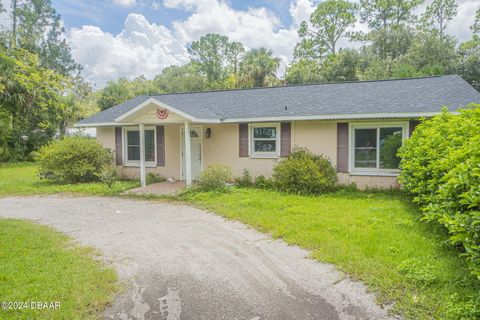
{"type": "MultiPolygon", "coordinates": [[[[155,166],[157,160],[157,137],[155,127],[145,127],[145,163],[155,166]]],[[[123,129],[123,155],[125,165],[140,165],[140,131],[138,128],[123,129]]]]}

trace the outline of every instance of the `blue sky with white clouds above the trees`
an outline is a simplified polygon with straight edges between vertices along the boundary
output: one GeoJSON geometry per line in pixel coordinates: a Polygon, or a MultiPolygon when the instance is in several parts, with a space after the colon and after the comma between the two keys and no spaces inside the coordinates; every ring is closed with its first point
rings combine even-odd
{"type": "MultiPolygon", "coordinates": [[[[187,62],[188,45],[206,33],[226,35],[247,48],[272,49],[280,57],[283,70],[292,59],[299,24],[308,19],[318,2],[52,0],[62,16],[73,57],[83,66],[84,78],[97,88],[119,77],[152,78],[167,66],[187,62]]],[[[447,31],[466,41],[471,37],[469,26],[480,0],[457,3],[458,15],[447,31]]],[[[356,29],[365,28],[356,25],[356,29]]],[[[358,44],[346,40],[340,43],[340,47],[350,46],[358,44]]]]}

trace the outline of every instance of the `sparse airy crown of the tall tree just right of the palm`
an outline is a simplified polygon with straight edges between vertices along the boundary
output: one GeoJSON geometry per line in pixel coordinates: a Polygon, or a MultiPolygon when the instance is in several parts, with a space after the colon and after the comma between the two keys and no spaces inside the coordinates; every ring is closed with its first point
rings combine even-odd
{"type": "Polygon", "coordinates": [[[319,58],[324,53],[335,54],[337,42],[349,36],[348,28],[356,21],[357,6],[347,0],[321,2],[310,16],[310,23],[302,22],[298,34],[300,43],[297,57],[319,58]]]}

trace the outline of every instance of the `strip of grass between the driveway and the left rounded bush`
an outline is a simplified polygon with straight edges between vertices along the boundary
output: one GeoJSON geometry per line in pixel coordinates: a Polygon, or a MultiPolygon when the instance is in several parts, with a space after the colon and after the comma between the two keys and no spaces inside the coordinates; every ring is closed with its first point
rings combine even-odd
{"type": "Polygon", "coordinates": [[[113,188],[102,182],[58,184],[40,179],[34,163],[0,165],[0,196],[62,192],[112,196],[139,185],[139,182],[134,180],[119,180],[113,188]]]}

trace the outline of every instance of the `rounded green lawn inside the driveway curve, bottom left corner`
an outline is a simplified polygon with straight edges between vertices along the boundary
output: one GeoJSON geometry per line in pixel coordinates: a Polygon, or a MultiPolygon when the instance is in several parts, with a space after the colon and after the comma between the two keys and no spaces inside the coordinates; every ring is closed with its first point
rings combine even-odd
{"type": "Polygon", "coordinates": [[[116,283],[92,249],[46,226],[0,219],[0,301],[60,302],[57,310],[2,308],[0,319],[101,319],[116,283]]]}

